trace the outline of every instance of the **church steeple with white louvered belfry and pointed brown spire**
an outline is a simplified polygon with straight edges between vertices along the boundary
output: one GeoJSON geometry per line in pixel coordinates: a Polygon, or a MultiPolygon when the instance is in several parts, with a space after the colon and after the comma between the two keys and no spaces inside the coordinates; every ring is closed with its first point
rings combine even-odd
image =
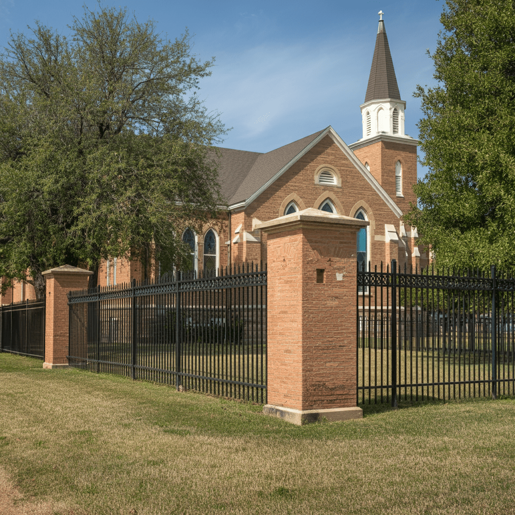
{"type": "Polygon", "coordinates": [[[375,138],[377,135],[406,138],[404,134],[406,102],[401,100],[399,93],[390,46],[386,37],[383,11],[379,11],[378,14],[381,18],[375,37],[374,56],[370,67],[365,103],[359,106],[363,118],[363,140],[375,138]]]}

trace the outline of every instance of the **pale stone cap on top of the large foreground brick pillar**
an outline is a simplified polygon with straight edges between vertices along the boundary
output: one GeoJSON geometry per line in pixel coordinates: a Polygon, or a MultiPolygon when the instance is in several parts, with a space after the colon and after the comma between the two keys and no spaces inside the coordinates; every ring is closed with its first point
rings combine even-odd
{"type": "Polygon", "coordinates": [[[360,220],[345,215],[337,215],[320,211],[319,209],[307,208],[302,211],[280,216],[267,222],[257,224],[254,229],[261,229],[265,232],[276,232],[282,230],[298,229],[301,227],[313,227],[324,224],[324,228],[333,227],[338,230],[341,226],[355,226],[356,231],[370,225],[368,220],[360,220]]]}

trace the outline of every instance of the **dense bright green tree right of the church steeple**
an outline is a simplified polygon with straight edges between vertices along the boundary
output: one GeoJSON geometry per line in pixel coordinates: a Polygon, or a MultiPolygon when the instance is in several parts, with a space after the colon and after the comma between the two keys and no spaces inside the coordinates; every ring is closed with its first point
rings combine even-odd
{"type": "MultiPolygon", "coordinates": [[[[506,0],[447,0],[434,61],[420,85],[421,160],[406,216],[439,267],[515,268],[515,9],[506,0]]],[[[428,52],[429,53],[429,52],[428,52]]]]}

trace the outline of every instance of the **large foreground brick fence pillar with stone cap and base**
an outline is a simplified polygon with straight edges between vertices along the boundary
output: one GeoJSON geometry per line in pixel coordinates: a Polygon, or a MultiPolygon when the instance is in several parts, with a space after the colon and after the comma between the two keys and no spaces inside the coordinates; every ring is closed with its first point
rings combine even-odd
{"type": "Polygon", "coordinates": [[[304,424],[361,418],[356,406],[356,232],[368,221],[313,208],[267,233],[264,413],[304,424]]]}

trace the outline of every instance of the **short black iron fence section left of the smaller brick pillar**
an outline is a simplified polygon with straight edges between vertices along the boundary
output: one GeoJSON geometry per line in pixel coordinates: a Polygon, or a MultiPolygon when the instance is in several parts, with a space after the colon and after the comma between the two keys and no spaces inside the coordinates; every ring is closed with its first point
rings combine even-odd
{"type": "Polygon", "coordinates": [[[0,306],[0,352],[45,358],[45,301],[0,306]]]}

